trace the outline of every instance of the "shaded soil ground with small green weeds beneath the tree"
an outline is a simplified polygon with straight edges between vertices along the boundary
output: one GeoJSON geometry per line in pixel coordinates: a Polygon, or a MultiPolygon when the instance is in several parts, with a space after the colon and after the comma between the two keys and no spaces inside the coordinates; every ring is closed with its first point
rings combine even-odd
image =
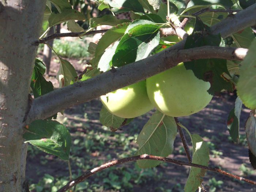
{"type": "MultiPolygon", "coordinates": [[[[76,68],[78,74],[83,71],[83,63],[76,59],[68,59],[76,68]]],[[[52,58],[50,74],[47,80],[54,87],[59,87],[54,79],[59,64],[57,58],[52,58]]],[[[229,137],[226,122],[230,110],[234,107],[235,97],[223,93],[214,97],[202,111],[187,117],[181,117],[181,123],[191,133],[197,133],[207,142],[210,149],[210,167],[216,167],[227,172],[256,181],[256,172],[252,170],[248,158],[248,147],[244,126],[249,109],[243,106],[240,119],[240,144],[235,144],[229,137]]],[[[100,99],[74,106],[64,111],[64,116],[58,114],[57,120],[68,127],[71,137],[71,167],[74,175],[80,175],[102,163],[128,157],[136,152],[135,138],[154,110],[135,118],[130,124],[117,132],[110,132],[99,122],[101,109],[100,99]]],[[[185,131],[184,131],[185,132],[185,131]]],[[[189,142],[189,137],[187,141],[189,142]]],[[[187,161],[182,148],[180,136],[174,142],[173,154],[169,158],[187,161]]],[[[55,185],[60,178],[68,180],[67,162],[54,155],[46,154],[35,147],[29,147],[27,156],[26,177],[30,184],[37,184],[31,192],[46,190],[55,185]],[[52,184],[42,182],[44,175],[49,174],[55,179],[52,184]],[[43,190],[43,189],[42,189],[43,190]]],[[[171,163],[161,163],[154,169],[139,169],[135,162],[125,163],[103,170],[84,181],[81,191],[182,191],[189,173],[189,167],[171,163]],[[123,167],[123,168],[122,168],[123,167]],[[126,179],[125,179],[126,178],[126,179]],[[88,188],[88,189],[85,189],[88,188]]],[[[75,178],[75,177],[74,177],[75,178]]],[[[64,181],[65,182],[65,181],[64,181]]],[[[256,191],[256,186],[234,180],[218,173],[207,171],[203,181],[207,191],[256,191]],[[218,182],[220,181],[220,182],[218,182]],[[221,182],[223,181],[223,182],[221,182]],[[210,189],[210,190],[209,190],[210,189]]],[[[76,188],[78,190],[78,188],[76,188]]],[[[46,190],[47,191],[47,190],[46,190]]],[[[79,190],[78,190],[79,191],[79,190]]]]}

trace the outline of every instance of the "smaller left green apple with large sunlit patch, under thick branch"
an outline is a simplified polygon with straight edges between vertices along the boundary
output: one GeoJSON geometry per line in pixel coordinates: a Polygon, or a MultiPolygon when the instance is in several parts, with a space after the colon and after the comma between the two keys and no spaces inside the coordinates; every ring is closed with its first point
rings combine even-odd
{"type": "Polygon", "coordinates": [[[123,118],[138,117],[154,108],[147,96],[146,80],[102,95],[101,102],[110,113],[123,118]]]}

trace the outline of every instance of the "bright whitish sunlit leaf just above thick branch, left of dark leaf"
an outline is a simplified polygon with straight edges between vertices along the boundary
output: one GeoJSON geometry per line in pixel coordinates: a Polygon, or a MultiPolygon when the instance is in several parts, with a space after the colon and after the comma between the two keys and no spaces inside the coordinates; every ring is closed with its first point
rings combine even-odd
{"type": "Polygon", "coordinates": [[[98,68],[100,69],[100,71],[103,71],[103,72],[108,71],[109,68],[112,66],[112,58],[113,58],[113,55],[115,54],[118,43],[119,42],[116,42],[112,47],[106,49],[106,51],[101,56],[101,59],[99,60],[99,63],[98,63],[98,68]]]}

